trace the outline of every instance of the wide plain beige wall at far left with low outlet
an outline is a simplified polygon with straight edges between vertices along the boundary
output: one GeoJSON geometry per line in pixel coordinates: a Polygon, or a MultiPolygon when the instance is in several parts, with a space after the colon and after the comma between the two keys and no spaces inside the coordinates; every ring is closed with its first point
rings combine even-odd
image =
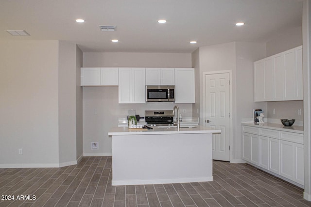
{"type": "Polygon", "coordinates": [[[0,167],[58,164],[58,41],[0,48],[0,167]]]}

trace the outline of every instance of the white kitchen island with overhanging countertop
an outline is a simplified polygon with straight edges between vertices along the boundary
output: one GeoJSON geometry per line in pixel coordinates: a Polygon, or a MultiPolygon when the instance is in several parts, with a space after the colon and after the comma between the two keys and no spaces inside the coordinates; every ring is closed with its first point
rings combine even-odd
{"type": "Polygon", "coordinates": [[[212,181],[212,134],[208,127],[113,127],[112,185],[212,181]]]}

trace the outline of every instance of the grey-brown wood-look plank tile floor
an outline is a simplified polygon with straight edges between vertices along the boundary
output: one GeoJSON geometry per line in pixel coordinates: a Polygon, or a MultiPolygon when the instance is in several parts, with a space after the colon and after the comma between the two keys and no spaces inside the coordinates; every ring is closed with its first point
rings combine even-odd
{"type": "Polygon", "coordinates": [[[214,181],[111,186],[111,157],[62,168],[0,169],[0,207],[311,207],[303,190],[248,164],[213,161],[214,181]],[[27,198],[27,197],[26,197],[27,198]]]}

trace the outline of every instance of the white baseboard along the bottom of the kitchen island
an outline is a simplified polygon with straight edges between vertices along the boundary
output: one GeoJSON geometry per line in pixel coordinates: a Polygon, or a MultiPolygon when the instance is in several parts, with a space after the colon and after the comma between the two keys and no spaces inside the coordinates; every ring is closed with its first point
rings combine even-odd
{"type": "Polygon", "coordinates": [[[150,180],[111,180],[111,185],[148,185],[148,184],[166,184],[166,183],[192,183],[192,182],[208,182],[213,181],[213,176],[210,177],[189,177],[175,179],[150,179],[150,180]]]}

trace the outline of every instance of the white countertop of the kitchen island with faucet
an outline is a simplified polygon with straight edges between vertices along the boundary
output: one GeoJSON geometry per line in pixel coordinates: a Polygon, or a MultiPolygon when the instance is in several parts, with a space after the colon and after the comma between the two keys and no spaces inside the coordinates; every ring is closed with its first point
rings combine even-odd
{"type": "Polygon", "coordinates": [[[219,129],[212,129],[209,127],[195,126],[192,128],[176,127],[153,127],[147,131],[129,131],[127,127],[113,127],[109,130],[108,135],[146,135],[146,134],[206,134],[206,133],[221,133],[219,129]]]}

